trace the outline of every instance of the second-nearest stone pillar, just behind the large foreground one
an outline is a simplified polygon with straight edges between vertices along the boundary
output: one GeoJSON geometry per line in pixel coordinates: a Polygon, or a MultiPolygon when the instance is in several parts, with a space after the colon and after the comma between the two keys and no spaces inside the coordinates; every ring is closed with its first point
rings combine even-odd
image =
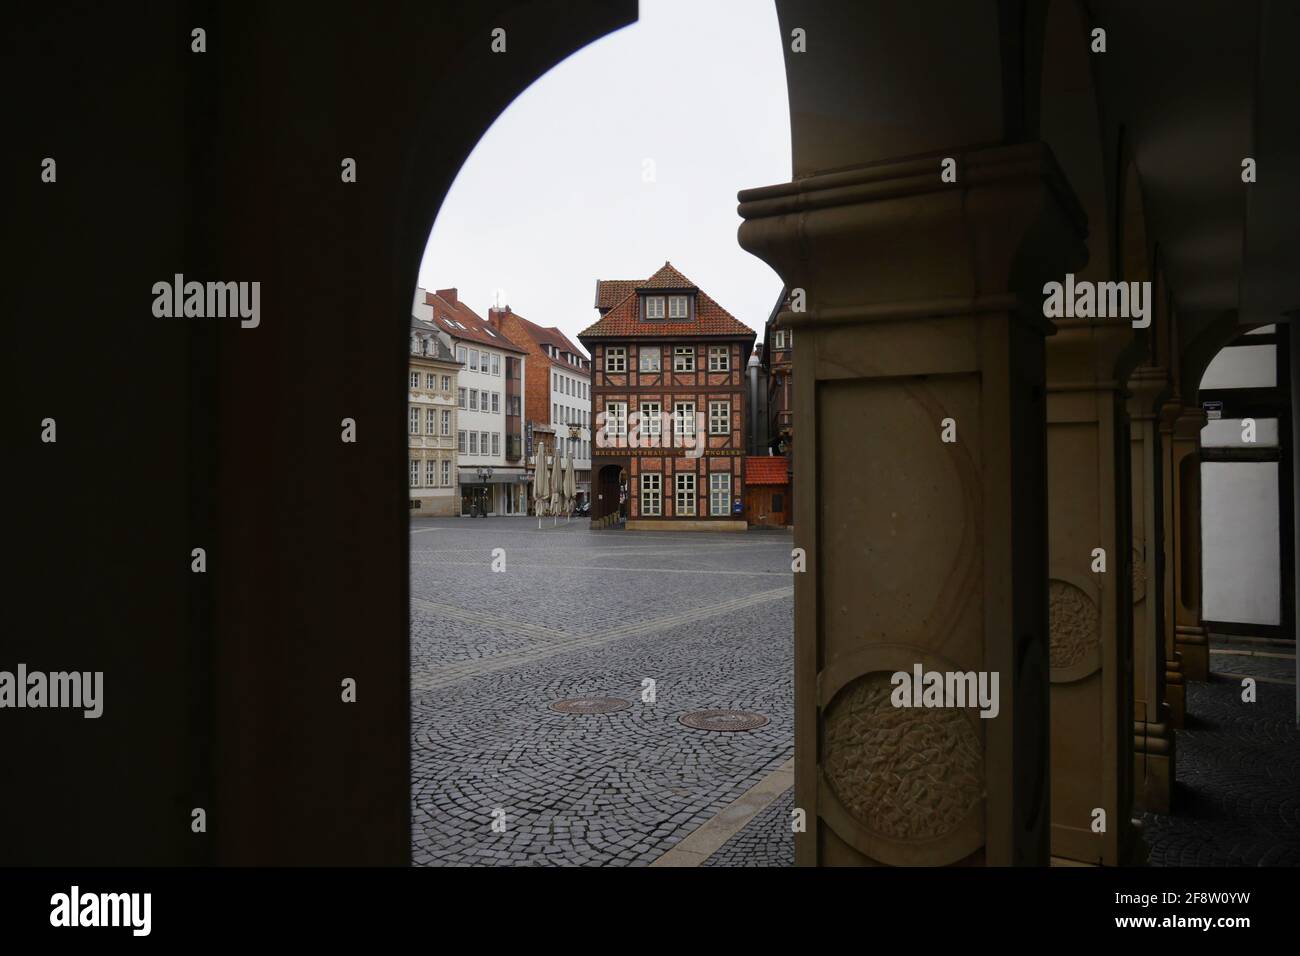
{"type": "Polygon", "coordinates": [[[1134,847],[1128,436],[1119,377],[1134,330],[1124,319],[1054,321],[1046,346],[1052,855],[1117,866],[1134,847]]]}

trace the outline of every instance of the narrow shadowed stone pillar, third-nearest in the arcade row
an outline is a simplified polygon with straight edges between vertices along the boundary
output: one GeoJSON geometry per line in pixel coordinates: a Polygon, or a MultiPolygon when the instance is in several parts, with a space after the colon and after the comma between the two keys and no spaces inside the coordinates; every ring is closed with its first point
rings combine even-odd
{"type": "Polygon", "coordinates": [[[1143,365],[1128,377],[1132,476],[1134,803],[1169,813],[1174,787],[1174,731],[1166,704],[1165,641],[1160,631],[1160,399],[1164,368],[1143,365]]]}

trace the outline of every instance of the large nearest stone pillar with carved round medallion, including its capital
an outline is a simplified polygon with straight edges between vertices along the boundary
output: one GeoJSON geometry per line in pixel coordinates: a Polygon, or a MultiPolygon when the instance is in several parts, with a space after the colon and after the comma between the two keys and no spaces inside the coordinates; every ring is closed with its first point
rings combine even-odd
{"type": "Polygon", "coordinates": [[[956,156],[956,183],[935,155],[740,196],[741,245],[807,297],[780,316],[800,865],[1049,858],[1041,287],[1084,217],[1043,144],[956,156]],[[893,706],[915,665],[997,672],[997,715],[893,706]]]}

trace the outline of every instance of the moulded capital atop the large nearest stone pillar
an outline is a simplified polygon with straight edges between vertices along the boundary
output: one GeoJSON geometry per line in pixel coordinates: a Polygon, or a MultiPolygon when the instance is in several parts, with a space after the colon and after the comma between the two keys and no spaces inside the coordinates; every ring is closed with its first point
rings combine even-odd
{"type": "Polygon", "coordinates": [[[740,245],[807,290],[792,326],[1002,311],[1087,260],[1087,217],[1043,143],[875,163],[740,193],[740,245]]]}

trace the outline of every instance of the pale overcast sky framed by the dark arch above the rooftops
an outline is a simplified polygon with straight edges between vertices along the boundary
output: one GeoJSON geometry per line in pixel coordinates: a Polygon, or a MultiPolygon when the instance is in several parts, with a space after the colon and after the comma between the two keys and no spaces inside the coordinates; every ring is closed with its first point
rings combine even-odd
{"type": "Polygon", "coordinates": [[[760,333],[781,281],[736,242],[736,193],[789,178],[771,0],[641,0],[637,23],[541,77],[478,142],[420,285],[456,286],[484,317],[499,289],[576,338],[597,319],[595,280],[667,259],[760,333]]]}

